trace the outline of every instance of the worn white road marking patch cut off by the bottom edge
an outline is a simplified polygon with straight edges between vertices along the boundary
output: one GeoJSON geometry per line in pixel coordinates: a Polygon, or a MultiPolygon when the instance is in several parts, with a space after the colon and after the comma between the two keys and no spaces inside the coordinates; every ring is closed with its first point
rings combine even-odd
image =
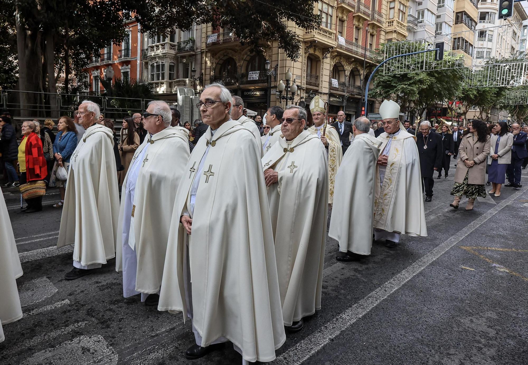
{"type": "Polygon", "coordinates": [[[55,348],[40,351],[25,359],[23,365],[75,364],[117,365],[118,356],[100,335],[79,336],[55,348]]]}

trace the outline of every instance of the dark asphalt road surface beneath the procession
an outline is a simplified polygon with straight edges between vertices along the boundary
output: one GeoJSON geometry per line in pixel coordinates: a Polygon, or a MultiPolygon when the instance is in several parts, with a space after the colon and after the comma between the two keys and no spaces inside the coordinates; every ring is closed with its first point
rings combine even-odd
{"type": "MultiPolygon", "coordinates": [[[[275,364],[528,364],[528,170],[524,187],[449,207],[451,177],[425,203],[427,238],[373,244],[361,263],[335,260],[327,240],[322,309],[288,334],[275,364]]],[[[489,190],[489,189],[488,189],[489,190]]],[[[40,213],[20,212],[4,190],[24,275],[24,317],[4,326],[0,364],[240,364],[231,346],[186,360],[194,343],[182,315],[122,297],[115,261],[64,280],[72,249],[55,250],[60,209],[49,190],[40,213]]]]}

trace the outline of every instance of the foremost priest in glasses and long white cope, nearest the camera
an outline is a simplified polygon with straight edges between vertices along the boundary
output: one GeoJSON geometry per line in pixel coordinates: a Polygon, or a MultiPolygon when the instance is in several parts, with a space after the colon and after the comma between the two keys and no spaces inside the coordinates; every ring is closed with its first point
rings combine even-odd
{"type": "Polygon", "coordinates": [[[209,129],[176,193],[158,309],[192,318],[187,359],[231,341],[242,363],[272,361],[286,335],[260,148],[224,86],[197,107],[209,129]]]}

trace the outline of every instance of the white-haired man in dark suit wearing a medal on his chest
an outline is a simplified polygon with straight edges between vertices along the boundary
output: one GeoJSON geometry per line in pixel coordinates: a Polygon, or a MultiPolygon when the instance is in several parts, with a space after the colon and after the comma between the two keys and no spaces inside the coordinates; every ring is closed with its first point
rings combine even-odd
{"type": "Polygon", "coordinates": [[[416,135],[416,145],[420,157],[422,191],[425,190],[426,202],[430,202],[432,200],[432,187],[435,186],[433,174],[435,171],[439,171],[442,166],[444,145],[442,144],[442,136],[431,132],[431,124],[428,121],[421,122],[419,128],[416,135]]]}

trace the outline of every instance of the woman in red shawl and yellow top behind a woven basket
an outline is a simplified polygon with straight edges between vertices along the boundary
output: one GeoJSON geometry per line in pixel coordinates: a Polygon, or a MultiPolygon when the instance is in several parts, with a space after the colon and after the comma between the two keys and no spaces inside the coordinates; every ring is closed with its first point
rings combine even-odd
{"type": "MultiPolygon", "coordinates": [[[[22,124],[22,142],[18,146],[18,165],[20,166],[20,184],[30,181],[44,180],[48,175],[46,159],[42,149],[42,141],[35,133],[35,123],[27,121],[22,124]]],[[[26,200],[25,213],[42,211],[42,197],[26,200]]]]}

